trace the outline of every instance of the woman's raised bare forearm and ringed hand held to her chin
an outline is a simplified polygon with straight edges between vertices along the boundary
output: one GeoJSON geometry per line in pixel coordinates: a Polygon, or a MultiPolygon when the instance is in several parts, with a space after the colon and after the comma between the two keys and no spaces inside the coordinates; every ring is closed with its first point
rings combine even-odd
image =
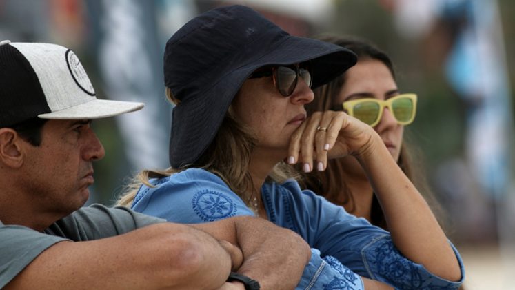
{"type": "Polygon", "coordinates": [[[327,158],[354,155],[378,197],[396,248],[436,276],[462,279],[458,259],[430,207],[372,127],[342,112],[314,113],[292,135],[289,155],[293,163],[300,161],[309,168],[313,160],[321,162],[321,169],[326,168],[327,158]],[[328,128],[327,132],[317,126],[328,128]]]}

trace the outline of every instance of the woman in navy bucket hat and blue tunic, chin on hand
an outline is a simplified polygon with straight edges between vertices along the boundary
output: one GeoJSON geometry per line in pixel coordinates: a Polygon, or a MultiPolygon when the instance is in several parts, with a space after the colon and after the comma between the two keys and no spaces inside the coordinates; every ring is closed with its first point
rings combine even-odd
{"type": "Polygon", "coordinates": [[[293,37],[250,8],[226,6],[176,32],[164,62],[176,104],[172,167],[141,173],[145,185],[119,204],[174,222],[258,215],[292,229],[313,248],[298,289],[375,283],[362,277],[403,289],[461,284],[461,258],[375,131],[343,112],[306,117],[310,86],[354,65],[350,50],[293,37]],[[345,155],[356,156],[373,180],[391,235],[301,191],[283,162],[323,170],[327,157],[345,155]]]}

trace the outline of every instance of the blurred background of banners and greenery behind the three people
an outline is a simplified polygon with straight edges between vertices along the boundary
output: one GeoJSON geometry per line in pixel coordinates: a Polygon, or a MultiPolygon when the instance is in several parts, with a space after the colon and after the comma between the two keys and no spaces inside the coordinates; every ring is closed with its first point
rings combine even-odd
{"type": "Polygon", "coordinates": [[[0,0],[0,40],[67,46],[99,98],[146,104],[93,123],[106,157],[88,203],[112,204],[141,169],[168,167],[165,42],[196,14],[232,3],[292,35],[358,35],[392,57],[401,91],[419,96],[406,135],[463,254],[466,289],[515,289],[511,0],[0,0]]]}

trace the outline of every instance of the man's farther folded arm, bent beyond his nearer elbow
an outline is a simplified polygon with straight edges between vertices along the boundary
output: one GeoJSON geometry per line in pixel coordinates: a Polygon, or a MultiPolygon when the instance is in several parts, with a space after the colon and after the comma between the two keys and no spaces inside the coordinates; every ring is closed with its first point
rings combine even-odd
{"type": "Polygon", "coordinates": [[[237,244],[244,257],[238,272],[259,281],[261,289],[294,289],[310,260],[310,247],[299,235],[261,218],[242,216],[192,226],[237,244]]]}

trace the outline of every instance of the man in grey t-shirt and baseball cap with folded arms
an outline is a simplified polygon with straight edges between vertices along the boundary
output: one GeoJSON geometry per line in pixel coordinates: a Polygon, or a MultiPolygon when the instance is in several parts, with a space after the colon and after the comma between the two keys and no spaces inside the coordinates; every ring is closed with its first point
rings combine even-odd
{"type": "Polygon", "coordinates": [[[193,227],[124,208],[79,209],[92,162],[104,155],[91,119],[141,108],[97,99],[72,50],[0,42],[0,288],[259,289],[246,276],[293,288],[310,249],[270,222],[193,227]],[[224,283],[228,276],[237,282],[224,283]]]}

